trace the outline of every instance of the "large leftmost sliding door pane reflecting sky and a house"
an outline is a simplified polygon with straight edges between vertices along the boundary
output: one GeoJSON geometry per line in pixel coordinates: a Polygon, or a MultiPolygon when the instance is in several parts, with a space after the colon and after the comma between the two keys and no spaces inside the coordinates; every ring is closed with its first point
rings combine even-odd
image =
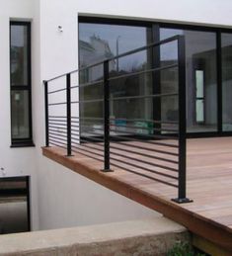
{"type": "MultiPolygon", "coordinates": [[[[80,23],[79,65],[82,68],[144,46],[151,43],[150,38],[150,29],[144,27],[80,23]]],[[[125,119],[153,119],[151,99],[116,100],[118,97],[152,94],[152,75],[150,73],[126,76],[148,69],[151,66],[151,56],[149,49],[110,61],[110,78],[121,76],[121,78],[113,79],[110,82],[110,113],[112,122],[116,123],[116,126],[124,124],[123,120],[125,119]],[[114,121],[114,119],[118,120],[114,121]]],[[[81,100],[103,99],[103,75],[103,65],[80,72],[80,82],[83,85],[80,89],[81,100]],[[99,83],[87,85],[94,81],[99,81],[99,83]]],[[[83,103],[80,106],[80,112],[82,118],[102,118],[103,103],[83,103]]],[[[91,123],[89,122],[89,124],[91,123]]],[[[92,124],[92,126],[95,125],[92,124]]]]}

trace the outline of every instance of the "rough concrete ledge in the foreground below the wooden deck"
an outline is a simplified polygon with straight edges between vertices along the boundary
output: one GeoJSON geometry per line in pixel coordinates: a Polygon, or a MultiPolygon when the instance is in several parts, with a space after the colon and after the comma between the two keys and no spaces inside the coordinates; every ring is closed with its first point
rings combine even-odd
{"type": "Polygon", "coordinates": [[[187,229],[163,216],[107,224],[0,235],[0,255],[165,255],[187,229]]]}

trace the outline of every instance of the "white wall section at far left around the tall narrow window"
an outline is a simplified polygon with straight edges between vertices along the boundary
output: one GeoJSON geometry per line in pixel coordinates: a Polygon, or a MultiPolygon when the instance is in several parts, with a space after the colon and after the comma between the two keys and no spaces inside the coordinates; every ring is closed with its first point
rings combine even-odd
{"type": "Polygon", "coordinates": [[[36,148],[11,148],[11,112],[10,112],[10,20],[33,21],[34,1],[0,1],[0,177],[31,176],[32,225],[39,227],[37,167],[35,165],[36,148]]]}

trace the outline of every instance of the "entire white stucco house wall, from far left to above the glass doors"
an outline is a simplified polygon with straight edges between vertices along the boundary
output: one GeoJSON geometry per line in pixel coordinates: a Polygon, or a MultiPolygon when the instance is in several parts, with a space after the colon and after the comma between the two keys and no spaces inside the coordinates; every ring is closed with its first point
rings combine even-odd
{"type": "MultiPolygon", "coordinates": [[[[230,0],[0,0],[0,167],[6,176],[32,176],[34,229],[116,221],[149,210],[41,156],[41,81],[77,68],[78,15],[231,27],[230,0]],[[32,20],[35,148],[10,148],[9,20],[32,20]],[[63,27],[59,33],[58,26],[63,27]],[[38,187],[38,190],[37,190],[38,187]],[[38,192],[38,194],[37,194],[38,192]],[[38,216],[39,210],[39,216],[38,216]]],[[[232,28],[232,27],[231,27],[232,28]]],[[[0,177],[2,176],[0,171],[0,177]]]]}

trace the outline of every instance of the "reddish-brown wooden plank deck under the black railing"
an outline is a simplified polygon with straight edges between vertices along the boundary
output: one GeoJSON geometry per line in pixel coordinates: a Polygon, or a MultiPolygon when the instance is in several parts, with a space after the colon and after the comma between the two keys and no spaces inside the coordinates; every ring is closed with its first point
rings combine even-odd
{"type": "Polygon", "coordinates": [[[193,203],[171,201],[177,189],[114,168],[82,154],[65,156],[58,147],[43,147],[43,155],[69,169],[182,223],[194,234],[223,247],[232,255],[232,137],[188,140],[188,197],[193,203]]]}

